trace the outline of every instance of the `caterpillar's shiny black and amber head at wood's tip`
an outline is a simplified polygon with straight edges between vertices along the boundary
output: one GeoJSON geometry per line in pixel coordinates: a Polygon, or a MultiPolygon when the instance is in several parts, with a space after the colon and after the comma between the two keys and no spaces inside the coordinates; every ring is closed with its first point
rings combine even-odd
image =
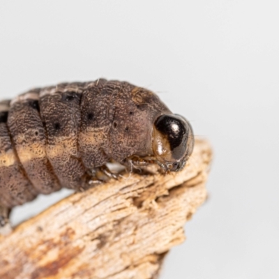
{"type": "Polygon", "coordinates": [[[194,137],[190,123],[177,114],[163,114],[153,125],[152,149],[158,164],[167,171],[184,167],[193,152],[194,137]]]}

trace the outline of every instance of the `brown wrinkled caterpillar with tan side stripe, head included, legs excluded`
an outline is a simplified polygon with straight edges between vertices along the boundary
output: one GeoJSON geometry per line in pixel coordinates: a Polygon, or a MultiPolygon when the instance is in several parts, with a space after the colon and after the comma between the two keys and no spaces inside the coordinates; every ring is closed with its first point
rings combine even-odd
{"type": "Polygon", "coordinates": [[[133,156],[151,156],[166,171],[178,171],[193,145],[186,119],[128,82],[33,89],[0,102],[0,206],[80,188],[89,169],[112,159],[125,165],[133,156]]]}

